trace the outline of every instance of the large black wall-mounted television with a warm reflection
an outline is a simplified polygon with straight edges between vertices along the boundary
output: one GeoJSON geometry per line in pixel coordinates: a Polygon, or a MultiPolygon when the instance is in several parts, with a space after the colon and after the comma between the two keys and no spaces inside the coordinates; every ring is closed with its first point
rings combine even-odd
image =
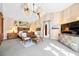
{"type": "Polygon", "coordinates": [[[74,21],[61,25],[61,32],[79,35],[79,21],[74,21]]]}

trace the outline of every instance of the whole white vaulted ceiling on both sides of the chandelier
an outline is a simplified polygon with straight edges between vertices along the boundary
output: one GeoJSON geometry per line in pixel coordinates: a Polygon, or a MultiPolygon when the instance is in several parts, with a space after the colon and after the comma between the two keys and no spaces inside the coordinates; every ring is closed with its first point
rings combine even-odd
{"type": "MultiPolygon", "coordinates": [[[[37,9],[39,6],[41,7],[41,12],[50,13],[61,11],[67,7],[72,5],[72,3],[38,3],[35,8],[37,9]]],[[[29,3],[30,8],[32,9],[32,3],[29,3]]],[[[23,3],[4,3],[3,4],[3,12],[7,17],[13,17],[21,20],[36,20],[37,16],[31,15],[26,16],[23,10],[23,3]]]]}

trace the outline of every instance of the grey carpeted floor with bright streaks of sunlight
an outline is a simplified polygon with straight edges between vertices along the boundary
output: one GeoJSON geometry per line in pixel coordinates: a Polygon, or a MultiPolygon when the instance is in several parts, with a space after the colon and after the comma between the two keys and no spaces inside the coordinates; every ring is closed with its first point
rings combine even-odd
{"type": "Polygon", "coordinates": [[[18,39],[5,40],[0,47],[0,56],[76,56],[72,51],[58,41],[44,39],[39,44],[24,47],[18,39]]]}

